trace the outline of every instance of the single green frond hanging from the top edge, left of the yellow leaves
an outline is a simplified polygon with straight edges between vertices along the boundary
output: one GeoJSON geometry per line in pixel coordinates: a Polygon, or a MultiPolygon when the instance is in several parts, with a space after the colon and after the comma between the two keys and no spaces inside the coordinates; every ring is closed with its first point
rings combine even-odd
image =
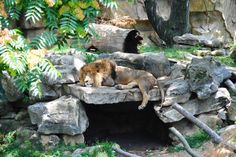
{"type": "Polygon", "coordinates": [[[45,6],[43,5],[43,1],[30,1],[26,7],[26,21],[32,21],[36,23],[43,17],[43,9],[45,6]]]}

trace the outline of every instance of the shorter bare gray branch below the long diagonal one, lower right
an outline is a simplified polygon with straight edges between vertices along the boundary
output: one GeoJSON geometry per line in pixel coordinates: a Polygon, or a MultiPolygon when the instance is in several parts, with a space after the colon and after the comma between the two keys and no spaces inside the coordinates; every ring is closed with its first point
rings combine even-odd
{"type": "Polygon", "coordinates": [[[202,157],[201,155],[196,154],[189,146],[188,142],[184,138],[184,136],[174,127],[169,128],[169,130],[179,138],[180,142],[183,144],[185,150],[191,155],[192,157],[202,157]]]}

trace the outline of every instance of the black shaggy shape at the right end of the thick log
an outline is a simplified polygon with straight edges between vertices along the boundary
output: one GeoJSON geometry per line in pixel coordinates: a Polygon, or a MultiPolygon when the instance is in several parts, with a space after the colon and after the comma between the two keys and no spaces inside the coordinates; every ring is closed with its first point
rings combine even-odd
{"type": "Polygon", "coordinates": [[[138,45],[142,44],[143,38],[137,30],[130,31],[124,41],[123,51],[126,53],[138,53],[138,45]]]}

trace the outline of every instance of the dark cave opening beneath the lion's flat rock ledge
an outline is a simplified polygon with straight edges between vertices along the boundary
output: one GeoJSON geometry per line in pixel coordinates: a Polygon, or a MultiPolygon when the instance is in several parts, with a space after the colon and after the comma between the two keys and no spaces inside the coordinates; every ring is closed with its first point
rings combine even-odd
{"type": "Polygon", "coordinates": [[[112,141],[126,150],[155,150],[170,144],[168,126],[156,115],[153,104],[139,111],[140,102],[84,104],[89,118],[87,144],[112,141]]]}

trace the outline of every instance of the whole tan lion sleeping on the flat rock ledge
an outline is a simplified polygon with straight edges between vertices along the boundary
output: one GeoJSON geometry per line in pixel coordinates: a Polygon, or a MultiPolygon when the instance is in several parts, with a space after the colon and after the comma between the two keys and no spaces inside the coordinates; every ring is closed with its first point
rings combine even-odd
{"type": "Polygon", "coordinates": [[[124,66],[117,66],[108,59],[97,60],[81,68],[80,84],[83,86],[114,86],[117,89],[131,89],[139,87],[143,100],[138,109],[146,107],[150,96],[148,92],[158,85],[161,92],[162,103],[164,102],[164,91],[157,79],[149,72],[135,70],[124,66]]]}

